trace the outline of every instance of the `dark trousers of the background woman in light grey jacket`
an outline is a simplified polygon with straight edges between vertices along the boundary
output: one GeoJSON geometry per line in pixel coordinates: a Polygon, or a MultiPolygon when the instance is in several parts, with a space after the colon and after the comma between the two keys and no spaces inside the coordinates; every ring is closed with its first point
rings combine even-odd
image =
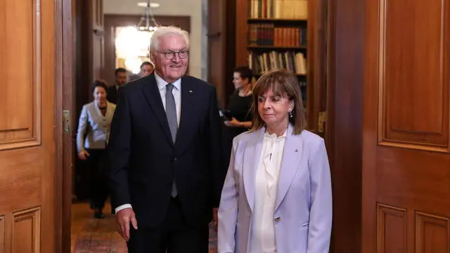
{"type": "Polygon", "coordinates": [[[89,153],[87,166],[89,174],[89,195],[92,209],[103,209],[108,198],[108,157],[105,149],[86,149],[89,153]]]}

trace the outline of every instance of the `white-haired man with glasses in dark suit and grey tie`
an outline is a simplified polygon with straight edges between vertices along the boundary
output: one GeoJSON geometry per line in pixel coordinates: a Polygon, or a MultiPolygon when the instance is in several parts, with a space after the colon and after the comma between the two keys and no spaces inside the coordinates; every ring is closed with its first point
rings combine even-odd
{"type": "Polygon", "coordinates": [[[188,32],[150,42],[155,71],[122,89],[108,146],[118,230],[130,253],[207,253],[225,176],[216,89],[185,75],[188,32]]]}

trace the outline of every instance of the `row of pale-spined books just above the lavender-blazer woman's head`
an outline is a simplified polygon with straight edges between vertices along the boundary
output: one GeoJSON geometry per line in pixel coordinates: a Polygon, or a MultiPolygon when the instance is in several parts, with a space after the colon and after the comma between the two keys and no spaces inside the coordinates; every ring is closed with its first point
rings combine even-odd
{"type": "Polygon", "coordinates": [[[273,68],[285,69],[294,74],[307,74],[307,62],[303,53],[294,51],[270,51],[266,53],[250,52],[248,65],[253,72],[262,74],[273,68]]]}

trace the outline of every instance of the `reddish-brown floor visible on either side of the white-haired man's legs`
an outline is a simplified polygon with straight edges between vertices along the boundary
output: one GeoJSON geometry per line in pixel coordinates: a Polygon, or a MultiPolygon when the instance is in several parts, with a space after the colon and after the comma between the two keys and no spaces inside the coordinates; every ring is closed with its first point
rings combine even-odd
{"type": "MultiPolygon", "coordinates": [[[[109,210],[109,205],[105,210],[109,210]]],[[[94,219],[89,205],[72,205],[72,253],[125,253],[125,241],[116,231],[114,216],[94,219]]],[[[210,229],[210,253],[217,248],[217,235],[210,229]]]]}

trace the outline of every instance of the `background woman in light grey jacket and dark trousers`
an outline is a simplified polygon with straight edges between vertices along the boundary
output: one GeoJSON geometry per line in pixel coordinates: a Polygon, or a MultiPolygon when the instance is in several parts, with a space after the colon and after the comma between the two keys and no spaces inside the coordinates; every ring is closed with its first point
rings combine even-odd
{"type": "Polygon", "coordinates": [[[86,161],[89,169],[89,193],[94,217],[103,219],[103,207],[108,197],[108,136],[115,104],[106,100],[105,82],[96,80],[93,86],[94,101],[83,105],[77,131],[78,157],[86,161]]]}

